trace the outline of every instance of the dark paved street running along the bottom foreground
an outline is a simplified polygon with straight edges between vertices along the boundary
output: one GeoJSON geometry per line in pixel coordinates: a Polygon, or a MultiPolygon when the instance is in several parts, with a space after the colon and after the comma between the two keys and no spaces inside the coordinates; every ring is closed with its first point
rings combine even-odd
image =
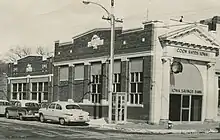
{"type": "Polygon", "coordinates": [[[0,118],[0,140],[219,140],[220,134],[143,135],[91,126],[60,126],[37,121],[0,118]]]}

